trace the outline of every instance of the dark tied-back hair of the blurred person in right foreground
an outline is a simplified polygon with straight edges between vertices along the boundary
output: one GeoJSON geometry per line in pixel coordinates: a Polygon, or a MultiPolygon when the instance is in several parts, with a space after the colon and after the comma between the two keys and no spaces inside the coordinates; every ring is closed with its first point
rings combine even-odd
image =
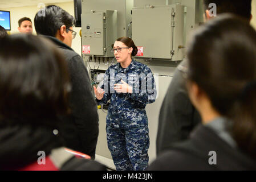
{"type": "Polygon", "coordinates": [[[213,107],[233,121],[239,148],[256,158],[256,31],[231,15],[209,20],[194,32],[188,78],[213,107]]]}

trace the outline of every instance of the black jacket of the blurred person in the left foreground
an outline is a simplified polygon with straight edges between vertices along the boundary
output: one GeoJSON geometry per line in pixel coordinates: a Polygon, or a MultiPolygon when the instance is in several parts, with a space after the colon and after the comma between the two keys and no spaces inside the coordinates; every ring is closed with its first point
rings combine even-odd
{"type": "MultiPolygon", "coordinates": [[[[39,120],[39,119],[38,119],[39,120]]],[[[46,156],[55,148],[63,146],[63,139],[54,135],[58,127],[45,126],[45,123],[56,123],[54,120],[34,121],[36,126],[17,121],[0,121],[0,170],[18,170],[35,163],[39,151],[46,156]]],[[[60,170],[106,170],[105,166],[94,160],[72,157],[65,161],[60,170]]]]}

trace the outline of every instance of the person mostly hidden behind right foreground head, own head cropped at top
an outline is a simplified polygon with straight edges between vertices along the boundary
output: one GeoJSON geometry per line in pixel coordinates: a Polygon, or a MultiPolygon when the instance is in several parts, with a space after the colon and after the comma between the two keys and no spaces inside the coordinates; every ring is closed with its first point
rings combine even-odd
{"type": "MultiPolygon", "coordinates": [[[[216,4],[217,16],[222,13],[233,13],[245,18],[248,22],[251,19],[251,0],[204,0],[206,19],[214,18],[209,12],[212,8],[212,6],[209,7],[210,3],[216,4]]],[[[180,64],[186,65],[187,61],[184,60],[180,64]]],[[[157,155],[173,143],[187,139],[198,123],[201,123],[200,114],[190,102],[185,80],[181,72],[176,69],[160,109],[157,155]]]]}

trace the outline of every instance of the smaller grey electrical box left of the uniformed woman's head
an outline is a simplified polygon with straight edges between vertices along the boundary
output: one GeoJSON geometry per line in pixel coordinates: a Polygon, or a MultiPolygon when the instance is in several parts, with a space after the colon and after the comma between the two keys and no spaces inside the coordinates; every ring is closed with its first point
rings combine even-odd
{"type": "Polygon", "coordinates": [[[117,39],[117,11],[91,11],[81,17],[83,55],[113,57],[111,49],[117,39]]]}

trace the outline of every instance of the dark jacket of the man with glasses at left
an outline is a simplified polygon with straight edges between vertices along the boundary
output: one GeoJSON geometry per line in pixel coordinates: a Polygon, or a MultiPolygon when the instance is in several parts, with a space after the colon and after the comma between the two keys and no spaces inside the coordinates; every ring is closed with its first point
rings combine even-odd
{"type": "Polygon", "coordinates": [[[72,48],[52,36],[44,36],[52,40],[63,52],[68,63],[68,71],[72,90],[70,93],[70,108],[68,117],[61,117],[63,127],[61,132],[67,142],[67,147],[83,152],[95,158],[97,137],[99,135],[99,117],[97,106],[92,96],[92,86],[82,57],[72,48]]]}

